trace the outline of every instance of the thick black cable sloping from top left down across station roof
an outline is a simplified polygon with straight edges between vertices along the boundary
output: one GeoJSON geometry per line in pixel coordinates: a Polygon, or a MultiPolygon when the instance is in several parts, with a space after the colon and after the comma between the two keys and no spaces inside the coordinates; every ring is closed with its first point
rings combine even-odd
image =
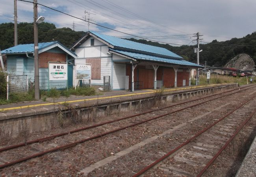
{"type": "MultiPolygon", "coordinates": [[[[26,1],[26,0],[19,0],[19,1],[29,2],[29,3],[34,4],[33,2],[26,1]]],[[[108,28],[108,27],[102,26],[102,25],[100,25],[100,24],[96,24],[96,23],[93,23],[93,22],[89,22],[89,21],[84,20],[84,19],[82,19],[82,18],[78,18],[78,17],[75,17],[75,16],[73,16],[73,15],[69,15],[69,14],[67,14],[67,13],[65,13],[65,12],[59,11],[59,10],[57,10],[57,9],[53,9],[53,8],[48,7],[48,6],[45,6],[45,5],[43,5],[43,4],[39,4],[39,3],[37,3],[37,4],[40,5],[40,6],[46,7],[46,8],[48,8],[48,9],[52,9],[52,10],[54,10],[54,11],[57,11],[57,12],[59,12],[59,13],[63,13],[63,14],[68,15],[68,16],[70,16],[70,17],[77,18],[77,19],[79,19],[79,20],[82,20],[82,21],[85,21],[85,22],[88,22],[88,23],[91,23],[91,24],[95,24],[95,25],[100,26],[100,27],[102,27],[102,28],[106,28],[106,29],[108,29],[108,30],[117,31],[117,32],[119,32],[119,33],[123,33],[123,34],[130,35],[130,36],[133,36],[133,37],[139,37],[139,36],[132,35],[132,34],[129,34],[129,33],[125,33],[125,32],[122,32],[122,31],[114,30],[114,29],[112,29],[112,28],[108,28]]],[[[144,37],[139,37],[139,38],[141,38],[141,39],[146,39],[146,40],[150,40],[150,39],[147,39],[147,38],[144,38],[144,37]]],[[[174,44],[174,43],[169,43],[169,42],[162,42],[162,41],[155,41],[155,40],[150,40],[150,41],[161,42],[161,43],[165,43],[165,44],[173,44],[173,45],[183,46],[182,44],[174,44]]]]}

